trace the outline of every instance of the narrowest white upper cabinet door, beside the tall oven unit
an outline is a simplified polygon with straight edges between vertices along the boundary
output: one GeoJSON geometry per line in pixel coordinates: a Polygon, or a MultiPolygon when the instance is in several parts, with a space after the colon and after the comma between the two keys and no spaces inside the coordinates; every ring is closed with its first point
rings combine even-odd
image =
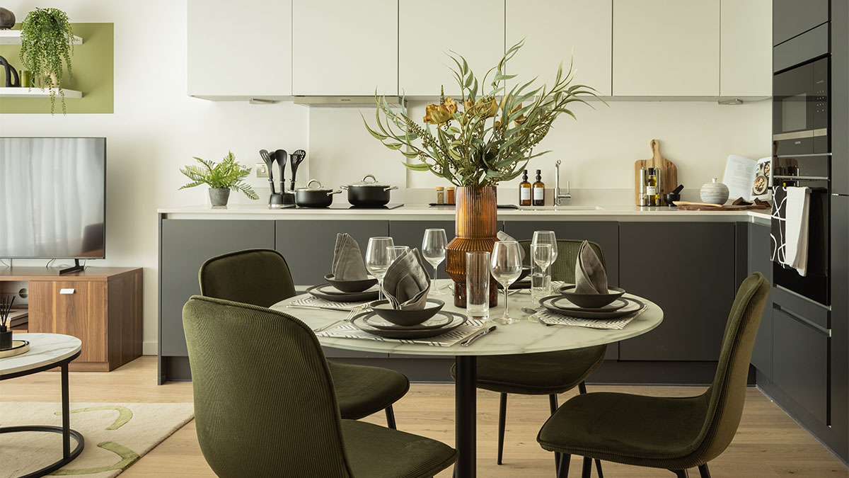
{"type": "Polygon", "coordinates": [[[772,0],[722,0],[720,96],[772,96],[772,0]]]}

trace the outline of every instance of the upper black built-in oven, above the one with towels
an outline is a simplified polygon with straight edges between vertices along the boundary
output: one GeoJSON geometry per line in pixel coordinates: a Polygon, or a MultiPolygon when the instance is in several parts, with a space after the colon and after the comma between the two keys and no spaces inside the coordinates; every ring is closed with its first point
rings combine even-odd
{"type": "Polygon", "coordinates": [[[778,155],[831,151],[828,57],[773,76],[773,141],[778,155]]]}

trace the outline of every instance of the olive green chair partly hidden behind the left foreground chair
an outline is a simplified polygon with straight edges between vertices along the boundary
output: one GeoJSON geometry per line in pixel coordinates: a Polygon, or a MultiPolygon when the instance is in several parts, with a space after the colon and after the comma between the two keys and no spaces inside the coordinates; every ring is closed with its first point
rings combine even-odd
{"type": "MultiPolygon", "coordinates": [[[[270,307],[295,295],[283,255],[273,249],[247,249],[208,259],[200,266],[200,293],[206,297],[270,307]]],[[[410,388],[402,373],[381,367],[329,362],[342,418],[359,419],[385,410],[395,428],[392,404],[410,388]]]]}

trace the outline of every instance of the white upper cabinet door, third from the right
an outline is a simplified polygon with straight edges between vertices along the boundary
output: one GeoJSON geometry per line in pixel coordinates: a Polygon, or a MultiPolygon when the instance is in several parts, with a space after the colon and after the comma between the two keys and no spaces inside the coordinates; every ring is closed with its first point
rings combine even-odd
{"type": "MultiPolygon", "coordinates": [[[[616,0],[617,3],[619,0],[616,0]]],[[[574,60],[574,83],[610,96],[612,0],[507,0],[507,47],[525,38],[507,66],[516,81],[539,77],[549,87],[557,67],[574,60]]]]}

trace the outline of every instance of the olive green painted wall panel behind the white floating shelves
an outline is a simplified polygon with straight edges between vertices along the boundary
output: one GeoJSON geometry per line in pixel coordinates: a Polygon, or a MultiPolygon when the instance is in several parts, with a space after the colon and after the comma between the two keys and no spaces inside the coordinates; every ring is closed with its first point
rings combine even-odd
{"type": "MultiPolygon", "coordinates": [[[[62,87],[82,91],[82,98],[65,99],[68,114],[112,113],[115,95],[115,25],[112,23],[74,23],[74,34],[82,45],[74,45],[70,63],[74,76],[62,81],[62,87]]],[[[16,26],[15,28],[20,28],[16,26]]],[[[20,45],[0,45],[0,56],[20,71],[20,45]]],[[[3,77],[4,78],[4,77],[3,77]]],[[[4,81],[4,80],[3,80],[4,81]]],[[[0,113],[50,113],[49,98],[0,98],[0,113]]],[[[56,98],[56,113],[62,105],[56,98]]]]}

